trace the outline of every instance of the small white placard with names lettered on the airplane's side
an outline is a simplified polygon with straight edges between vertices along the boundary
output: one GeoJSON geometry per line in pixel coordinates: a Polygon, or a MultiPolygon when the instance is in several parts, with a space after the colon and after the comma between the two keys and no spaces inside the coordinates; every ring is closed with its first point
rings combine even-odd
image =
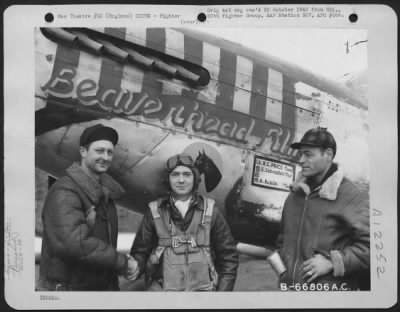
{"type": "Polygon", "coordinates": [[[294,172],[294,165],[255,156],[251,184],[288,192],[294,181],[294,172]]]}

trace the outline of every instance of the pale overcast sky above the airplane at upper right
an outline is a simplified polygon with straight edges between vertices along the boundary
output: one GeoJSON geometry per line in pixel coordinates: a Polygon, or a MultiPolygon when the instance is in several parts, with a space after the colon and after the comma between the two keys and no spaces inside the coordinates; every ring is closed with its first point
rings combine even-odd
{"type": "Polygon", "coordinates": [[[358,29],[202,28],[201,31],[241,43],[337,79],[367,68],[367,32],[358,29]],[[346,53],[349,42],[349,53],[346,53]]]}

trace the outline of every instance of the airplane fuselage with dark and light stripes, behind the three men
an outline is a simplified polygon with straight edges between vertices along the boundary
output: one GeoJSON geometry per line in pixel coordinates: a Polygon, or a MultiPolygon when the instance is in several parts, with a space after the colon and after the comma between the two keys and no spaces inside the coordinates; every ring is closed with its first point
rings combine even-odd
{"type": "Polygon", "coordinates": [[[110,174],[127,209],[165,194],[166,159],[185,152],[235,238],[272,245],[299,172],[289,146],[316,126],[335,135],[350,178],[368,184],[365,100],[297,66],[185,29],[36,29],[35,43],[36,166],[63,175],[83,129],[111,126],[110,174]]]}

